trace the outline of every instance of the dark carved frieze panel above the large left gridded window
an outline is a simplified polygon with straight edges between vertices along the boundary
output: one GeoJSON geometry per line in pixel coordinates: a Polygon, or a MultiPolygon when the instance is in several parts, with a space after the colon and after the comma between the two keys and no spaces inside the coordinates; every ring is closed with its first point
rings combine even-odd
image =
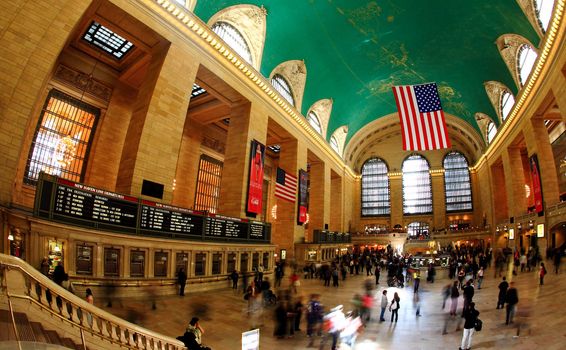
{"type": "Polygon", "coordinates": [[[65,85],[84,91],[85,94],[88,94],[91,97],[105,102],[110,102],[112,88],[103,82],[94,79],[92,75],[60,64],[55,70],[54,78],[65,85]]]}

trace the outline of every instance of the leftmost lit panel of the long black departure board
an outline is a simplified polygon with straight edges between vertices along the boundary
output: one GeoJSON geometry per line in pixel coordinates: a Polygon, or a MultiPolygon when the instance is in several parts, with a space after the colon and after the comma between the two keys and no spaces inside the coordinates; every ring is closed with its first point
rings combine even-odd
{"type": "Polygon", "coordinates": [[[57,179],[54,217],[73,217],[117,226],[136,227],[138,200],[64,179],[57,179]]]}

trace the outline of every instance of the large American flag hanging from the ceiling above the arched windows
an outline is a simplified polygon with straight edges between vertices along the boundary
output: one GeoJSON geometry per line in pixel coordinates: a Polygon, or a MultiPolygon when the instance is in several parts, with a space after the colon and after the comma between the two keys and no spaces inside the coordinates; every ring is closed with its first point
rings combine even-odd
{"type": "Polygon", "coordinates": [[[425,151],[451,147],[436,83],[394,86],[403,150],[425,151]]]}

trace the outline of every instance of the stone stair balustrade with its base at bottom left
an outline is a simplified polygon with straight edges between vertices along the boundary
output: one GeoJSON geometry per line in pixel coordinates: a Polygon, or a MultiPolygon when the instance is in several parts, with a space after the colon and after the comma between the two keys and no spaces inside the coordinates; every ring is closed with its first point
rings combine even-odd
{"type": "Polygon", "coordinates": [[[108,349],[108,344],[112,345],[110,347],[126,349],[186,349],[177,339],[139,327],[89,304],[16,257],[0,254],[0,277],[1,291],[7,296],[18,343],[14,302],[22,300],[29,302],[34,310],[64,322],[68,326],[65,332],[72,333],[77,329],[75,336],[85,349],[87,346],[90,349],[108,349]],[[108,343],[101,344],[104,343],[101,339],[108,343]]]}

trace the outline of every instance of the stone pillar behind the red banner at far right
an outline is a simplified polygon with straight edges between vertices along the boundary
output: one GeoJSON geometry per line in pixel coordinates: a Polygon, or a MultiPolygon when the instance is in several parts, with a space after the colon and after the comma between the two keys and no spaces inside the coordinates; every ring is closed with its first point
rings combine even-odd
{"type": "MultiPolygon", "coordinates": [[[[544,120],[532,118],[530,125],[523,131],[529,155],[536,154],[538,158],[544,204],[546,206],[556,204],[560,200],[558,174],[544,120]]],[[[528,171],[530,173],[530,168],[528,171]]]]}

